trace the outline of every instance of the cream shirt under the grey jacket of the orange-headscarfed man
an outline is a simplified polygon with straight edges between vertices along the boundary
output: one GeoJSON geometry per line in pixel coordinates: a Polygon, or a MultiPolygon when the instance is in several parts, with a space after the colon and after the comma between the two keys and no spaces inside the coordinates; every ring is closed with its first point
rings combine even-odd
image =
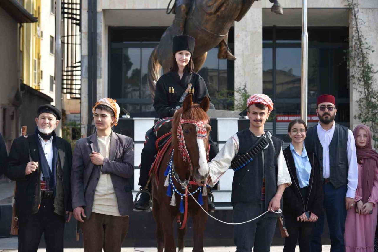
{"type": "MultiPolygon", "coordinates": [[[[104,158],[109,158],[110,136],[98,136],[98,147],[104,158]]],[[[102,167],[101,167],[102,168],[102,167]]],[[[118,210],[116,193],[110,174],[102,174],[98,180],[93,198],[92,212],[121,216],[118,210]]]]}

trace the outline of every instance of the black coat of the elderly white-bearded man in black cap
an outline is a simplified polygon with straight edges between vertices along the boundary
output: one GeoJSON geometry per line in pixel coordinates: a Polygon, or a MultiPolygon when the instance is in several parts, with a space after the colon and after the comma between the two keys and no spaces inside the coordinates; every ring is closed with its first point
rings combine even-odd
{"type": "MultiPolygon", "coordinates": [[[[66,140],[60,137],[56,138],[56,146],[62,166],[65,211],[72,211],[70,182],[72,148],[66,140]]],[[[36,197],[36,186],[39,184],[38,179],[40,179],[38,172],[25,175],[26,165],[30,161],[29,155],[33,161],[39,161],[38,147],[34,134],[29,135],[28,138],[21,136],[14,139],[8,156],[6,175],[8,178],[17,181],[17,192],[15,195],[16,213],[23,216],[31,214],[34,198],[36,197]]]]}

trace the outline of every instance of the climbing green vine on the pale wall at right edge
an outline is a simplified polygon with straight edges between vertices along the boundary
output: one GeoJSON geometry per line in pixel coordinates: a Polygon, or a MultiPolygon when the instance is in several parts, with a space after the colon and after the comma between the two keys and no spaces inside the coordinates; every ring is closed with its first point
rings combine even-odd
{"type": "Polygon", "coordinates": [[[348,6],[353,23],[348,67],[350,81],[354,83],[353,87],[360,96],[357,100],[358,113],[354,117],[369,126],[375,141],[374,148],[378,149],[378,85],[374,77],[378,71],[369,61],[369,55],[374,50],[361,32],[364,21],[358,17],[358,3],[356,0],[348,0],[348,6]]]}

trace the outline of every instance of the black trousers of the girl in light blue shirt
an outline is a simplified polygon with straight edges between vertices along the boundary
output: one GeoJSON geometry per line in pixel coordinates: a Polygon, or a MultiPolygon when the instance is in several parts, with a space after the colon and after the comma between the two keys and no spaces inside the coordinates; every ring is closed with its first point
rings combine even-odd
{"type": "Polygon", "coordinates": [[[292,223],[294,222],[294,219],[290,218],[290,221],[288,219],[289,218],[285,218],[285,224],[289,237],[285,238],[283,252],[294,252],[297,242],[299,243],[300,252],[310,252],[314,222],[292,223]]]}

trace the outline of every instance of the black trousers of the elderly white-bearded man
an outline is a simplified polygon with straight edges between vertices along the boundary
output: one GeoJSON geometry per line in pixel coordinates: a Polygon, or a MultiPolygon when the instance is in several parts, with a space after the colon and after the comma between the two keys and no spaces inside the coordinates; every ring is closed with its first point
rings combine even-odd
{"type": "Polygon", "coordinates": [[[63,252],[64,223],[54,213],[54,199],[42,199],[38,213],[19,218],[19,252],[36,252],[42,233],[47,252],[63,252]]]}

